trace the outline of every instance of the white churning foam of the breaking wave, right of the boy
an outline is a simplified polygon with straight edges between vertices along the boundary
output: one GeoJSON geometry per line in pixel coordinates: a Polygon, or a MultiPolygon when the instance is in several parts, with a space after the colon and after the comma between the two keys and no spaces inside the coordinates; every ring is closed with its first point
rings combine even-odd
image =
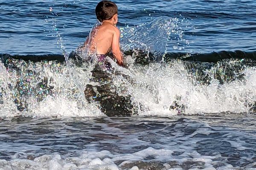
{"type": "Polygon", "coordinates": [[[177,114],[177,111],[169,110],[174,101],[184,105],[187,114],[248,112],[247,103],[256,100],[256,68],[247,68],[244,80],[236,79],[223,85],[214,77],[210,85],[193,85],[181,62],[132,66],[129,70],[137,83],[122,89],[126,88],[127,94],[143,103],[146,111],[142,115],[177,114]]]}

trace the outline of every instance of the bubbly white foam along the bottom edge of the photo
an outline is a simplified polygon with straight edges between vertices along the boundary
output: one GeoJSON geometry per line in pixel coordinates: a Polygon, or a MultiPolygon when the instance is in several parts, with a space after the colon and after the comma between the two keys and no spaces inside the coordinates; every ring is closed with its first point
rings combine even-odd
{"type": "Polygon", "coordinates": [[[99,152],[84,150],[76,157],[55,153],[35,158],[30,156],[29,158],[32,160],[19,158],[11,161],[0,160],[0,168],[4,170],[141,170],[151,168],[163,170],[184,170],[187,168],[190,170],[233,170],[238,168],[227,164],[227,160],[220,155],[219,157],[203,156],[196,152],[186,152],[186,157],[183,157],[182,155],[172,156],[172,153],[172,150],[156,150],[151,147],[131,154],[112,154],[107,150],[99,152]],[[154,157],[154,159],[146,161],[148,156],[154,157]]]}

